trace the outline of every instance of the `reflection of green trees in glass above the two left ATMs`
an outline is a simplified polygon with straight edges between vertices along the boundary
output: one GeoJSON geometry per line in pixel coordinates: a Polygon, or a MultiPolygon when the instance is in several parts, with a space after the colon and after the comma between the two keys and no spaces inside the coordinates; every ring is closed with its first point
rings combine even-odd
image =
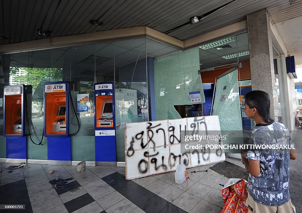
{"type": "Polygon", "coordinates": [[[36,89],[43,78],[52,78],[54,80],[62,79],[61,68],[28,68],[28,67],[10,67],[10,75],[16,75],[19,71],[25,75],[14,76],[14,82],[33,86],[36,89]]]}

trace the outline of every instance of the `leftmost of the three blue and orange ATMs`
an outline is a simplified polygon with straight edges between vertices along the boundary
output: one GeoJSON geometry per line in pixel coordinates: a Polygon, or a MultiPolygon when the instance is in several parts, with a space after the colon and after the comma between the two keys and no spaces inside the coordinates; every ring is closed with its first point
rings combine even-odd
{"type": "Polygon", "coordinates": [[[4,87],[3,135],[6,137],[6,162],[27,160],[28,118],[31,118],[31,85],[4,87]]]}

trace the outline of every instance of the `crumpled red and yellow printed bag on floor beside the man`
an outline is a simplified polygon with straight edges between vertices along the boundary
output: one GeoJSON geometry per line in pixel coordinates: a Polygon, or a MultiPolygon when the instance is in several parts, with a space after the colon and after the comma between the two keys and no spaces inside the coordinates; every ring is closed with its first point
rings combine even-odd
{"type": "Polygon", "coordinates": [[[221,213],[247,213],[249,211],[244,205],[248,196],[246,180],[230,178],[221,191],[224,201],[221,213]]]}

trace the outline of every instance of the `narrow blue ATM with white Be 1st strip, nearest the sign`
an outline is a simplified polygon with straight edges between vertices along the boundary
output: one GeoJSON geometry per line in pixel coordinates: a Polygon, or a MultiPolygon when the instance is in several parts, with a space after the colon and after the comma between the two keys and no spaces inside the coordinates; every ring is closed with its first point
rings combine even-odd
{"type": "Polygon", "coordinates": [[[116,166],[114,89],[114,82],[94,84],[96,166],[116,166]]]}

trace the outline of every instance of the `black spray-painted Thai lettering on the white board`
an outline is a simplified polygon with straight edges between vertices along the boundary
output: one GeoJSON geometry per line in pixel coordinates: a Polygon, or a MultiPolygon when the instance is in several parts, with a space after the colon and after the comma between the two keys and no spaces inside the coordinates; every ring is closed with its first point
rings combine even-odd
{"type": "MultiPolygon", "coordinates": [[[[163,147],[166,148],[168,145],[173,145],[173,144],[179,144],[182,143],[182,134],[188,135],[188,132],[190,132],[191,135],[198,134],[198,131],[201,128],[201,125],[204,125],[205,133],[207,134],[207,124],[204,121],[204,117],[195,117],[194,122],[191,123],[190,126],[190,131],[187,129],[187,125],[184,126],[184,131],[181,131],[182,125],[179,124],[179,132],[175,132],[175,127],[170,125],[167,128],[167,131],[169,131],[169,142],[167,144],[166,141],[166,134],[168,134],[165,130],[165,127],[162,124],[158,124],[156,126],[152,126],[151,122],[147,123],[148,126],[146,128],[146,131],[141,131],[137,134],[135,134],[134,137],[131,137],[130,141],[130,146],[127,149],[127,157],[132,157],[133,154],[135,153],[135,150],[133,148],[134,143],[140,143],[140,147],[142,149],[146,148],[148,145],[149,147],[153,147],[152,149],[154,150],[153,154],[150,154],[149,151],[145,151],[143,153],[143,156],[145,159],[141,159],[140,162],[138,163],[138,170],[140,173],[144,174],[148,172],[148,160],[150,159],[150,166],[153,165],[154,169],[157,171],[158,169],[162,169],[163,171],[167,171],[172,169],[172,167],[183,163],[185,166],[188,166],[190,163],[190,154],[191,156],[197,156],[198,159],[198,164],[201,163],[200,156],[202,157],[203,162],[210,162],[210,149],[194,149],[189,151],[186,151],[184,153],[169,153],[168,160],[165,163],[165,156],[160,156],[159,152],[156,152],[156,144],[157,142],[163,143],[163,147]],[[144,134],[147,134],[147,141],[144,141],[144,134]],[[163,137],[161,138],[161,141],[154,141],[154,136],[155,134],[162,134],[163,137]],[[201,154],[201,155],[200,155],[201,154]],[[147,158],[147,159],[146,159],[147,158]]],[[[221,140],[219,140],[219,144],[221,144],[221,140]]],[[[169,148],[169,147],[168,147],[169,148]]],[[[220,157],[222,155],[222,150],[217,149],[216,150],[216,155],[220,157]]],[[[166,156],[167,157],[167,156],[166,156]]]]}

